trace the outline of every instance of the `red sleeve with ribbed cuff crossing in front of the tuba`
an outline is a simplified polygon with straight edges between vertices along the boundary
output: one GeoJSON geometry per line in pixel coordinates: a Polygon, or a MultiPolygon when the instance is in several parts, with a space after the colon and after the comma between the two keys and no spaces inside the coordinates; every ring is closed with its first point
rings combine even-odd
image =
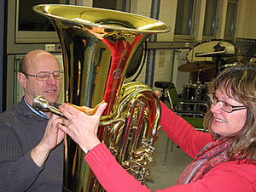
{"type": "Polygon", "coordinates": [[[98,144],[84,160],[107,191],[151,191],[125,171],[115,160],[105,144],[98,144]]]}

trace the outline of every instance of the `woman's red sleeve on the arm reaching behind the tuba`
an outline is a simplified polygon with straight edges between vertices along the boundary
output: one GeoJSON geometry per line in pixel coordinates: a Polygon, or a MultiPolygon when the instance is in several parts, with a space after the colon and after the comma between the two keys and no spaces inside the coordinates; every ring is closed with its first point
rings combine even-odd
{"type": "Polygon", "coordinates": [[[206,144],[214,141],[210,133],[195,130],[195,127],[192,127],[182,117],[177,116],[162,102],[160,126],[175,144],[193,158],[206,144]]]}

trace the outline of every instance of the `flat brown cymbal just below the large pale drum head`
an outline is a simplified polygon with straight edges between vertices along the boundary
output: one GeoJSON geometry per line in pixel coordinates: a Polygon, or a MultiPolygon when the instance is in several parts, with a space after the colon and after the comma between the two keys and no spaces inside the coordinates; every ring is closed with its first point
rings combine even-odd
{"type": "Polygon", "coordinates": [[[187,63],[184,65],[180,65],[177,70],[183,72],[195,72],[195,71],[206,71],[215,68],[214,63],[208,61],[200,61],[187,63]]]}

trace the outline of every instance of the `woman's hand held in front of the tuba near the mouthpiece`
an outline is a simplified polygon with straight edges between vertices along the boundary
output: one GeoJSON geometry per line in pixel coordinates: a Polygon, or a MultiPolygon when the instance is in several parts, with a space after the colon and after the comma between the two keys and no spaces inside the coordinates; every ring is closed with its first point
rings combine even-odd
{"type": "Polygon", "coordinates": [[[80,148],[86,153],[101,143],[96,134],[100,117],[106,106],[107,103],[101,103],[96,107],[96,112],[93,115],[86,115],[76,109],[77,106],[62,104],[59,109],[68,120],[63,118],[63,124],[59,123],[58,127],[73,138],[73,141],[79,144],[80,148]]]}

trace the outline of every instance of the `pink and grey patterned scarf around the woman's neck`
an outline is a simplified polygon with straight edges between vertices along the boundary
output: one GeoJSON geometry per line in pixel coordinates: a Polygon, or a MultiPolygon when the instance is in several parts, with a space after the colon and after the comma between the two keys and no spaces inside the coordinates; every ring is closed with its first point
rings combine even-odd
{"type": "Polygon", "coordinates": [[[230,143],[230,140],[222,139],[207,144],[199,154],[195,156],[195,160],[192,161],[179,178],[177,178],[175,185],[193,183],[201,179],[204,174],[218,166],[218,164],[230,161],[226,152],[230,143]]]}

